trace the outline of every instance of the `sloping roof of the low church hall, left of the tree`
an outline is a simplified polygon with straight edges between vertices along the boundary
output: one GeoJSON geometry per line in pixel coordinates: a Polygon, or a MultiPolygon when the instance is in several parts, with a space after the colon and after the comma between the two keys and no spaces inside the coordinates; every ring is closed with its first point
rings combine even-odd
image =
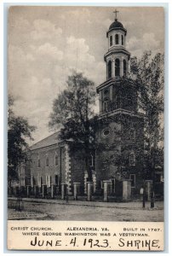
{"type": "Polygon", "coordinates": [[[49,137],[45,137],[43,140],[39,141],[38,143],[33,144],[30,149],[38,149],[38,148],[44,148],[44,147],[49,147],[51,145],[54,145],[56,143],[59,143],[60,141],[58,140],[58,132],[55,132],[49,137]]]}

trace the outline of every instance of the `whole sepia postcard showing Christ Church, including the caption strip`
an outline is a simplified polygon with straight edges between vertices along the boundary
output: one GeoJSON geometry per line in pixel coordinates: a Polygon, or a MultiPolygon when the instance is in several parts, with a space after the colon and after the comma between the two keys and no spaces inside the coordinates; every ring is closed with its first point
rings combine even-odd
{"type": "MultiPolygon", "coordinates": [[[[162,7],[11,6],[10,242],[20,231],[37,249],[44,224],[112,240],[116,224],[126,236],[160,236],[119,238],[118,250],[162,250],[163,90],[162,7]]],[[[84,239],[89,250],[116,250],[84,239]]]]}

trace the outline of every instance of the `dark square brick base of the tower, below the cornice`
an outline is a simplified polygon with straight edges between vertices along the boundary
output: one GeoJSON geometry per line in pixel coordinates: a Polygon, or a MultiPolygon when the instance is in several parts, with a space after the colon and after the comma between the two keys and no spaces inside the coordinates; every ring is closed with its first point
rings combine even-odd
{"type": "MultiPolygon", "coordinates": [[[[137,193],[142,183],[141,172],[143,170],[144,155],[144,119],[135,116],[135,114],[117,114],[112,118],[100,120],[96,132],[97,142],[100,148],[96,151],[96,177],[97,187],[100,188],[100,181],[115,177],[118,166],[112,162],[113,155],[123,155],[124,160],[121,167],[124,166],[121,174],[129,178],[130,174],[135,174],[134,193],[137,193]],[[105,136],[104,131],[108,130],[109,135],[105,136]],[[133,134],[131,134],[131,131],[133,134]],[[134,136],[135,135],[135,136],[134,136]],[[106,145],[106,148],[104,146],[106,145]],[[112,147],[112,148],[111,148],[112,147]],[[135,153],[135,166],[129,164],[129,154],[135,153]],[[109,164],[106,165],[106,160],[109,164]],[[124,172],[123,172],[124,171],[124,172]]],[[[122,158],[123,159],[123,158],[122,158]]],[[[121,175],[120,174],[120,175],[121,175]]],[[[116,177],[120,179],[119,177],[116,177]]]]}

